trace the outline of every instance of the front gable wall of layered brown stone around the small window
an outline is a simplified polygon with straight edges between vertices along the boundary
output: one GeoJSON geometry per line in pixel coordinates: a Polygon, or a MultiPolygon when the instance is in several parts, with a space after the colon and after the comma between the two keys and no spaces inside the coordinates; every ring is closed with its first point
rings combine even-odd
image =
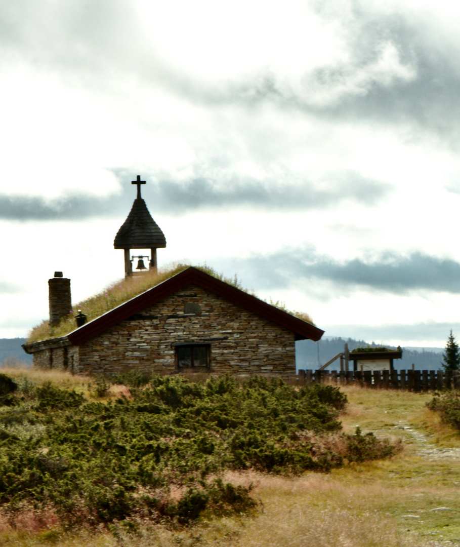
{"type": "Polygon", "coordinates": [[[193,285],[84,342],[74,371],[173,374],[178,371],[175,345],[193,342],[209,344],[211,373],[287,376],[296,371],[291,331],[193,285]]]}

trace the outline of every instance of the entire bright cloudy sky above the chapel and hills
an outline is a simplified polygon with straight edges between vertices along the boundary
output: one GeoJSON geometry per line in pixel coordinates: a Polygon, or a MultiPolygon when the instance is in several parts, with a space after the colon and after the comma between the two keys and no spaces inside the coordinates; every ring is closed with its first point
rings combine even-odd
{"type": "Polygon", "coordinates": [[[0,337],[124,274],[207,264],[328,336],[460,336],[460,4],[0,0],[0,337]],[[138,254],[138,251],[135,252],[138,254]]]}

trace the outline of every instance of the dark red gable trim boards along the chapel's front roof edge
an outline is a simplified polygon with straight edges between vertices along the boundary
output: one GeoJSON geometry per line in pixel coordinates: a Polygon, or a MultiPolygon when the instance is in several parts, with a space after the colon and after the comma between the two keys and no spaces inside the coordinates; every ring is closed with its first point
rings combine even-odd
{"type": "Polygon", "coordinates": [[[324,333],[323,330],[314,325],[306,323],[290,313],[279,310],[275,306],[267,304],[267,302],[245,293],[243,290],[232,287],[228,283],[220,281],[209,274],[205,274],[194,267],[188,267],[186,270],[170,277],[156,287],[146,290],[145,293],[135,296],[124,304],[117,306],[113,310],[104,313],[104,315],[86,323],[79,329],[74,330],[67,335],[67,338],[76,346],[83,344],[86,340],[90,340],[91,338],[102,334],[108,328],[125,321],[125,319],[131,317],[135,313],[139,313],[146,307],[156,304],[156,302],[163,300],[167,296],[174,294],[178,290],[191,284],[209,290],[209,292],[221,296],[222,298],[233,302],[233,304],[244,307],[246,310],[257,313],[257,315],[269,319],[269,321],[273,321],[287,330],[291,330],[296,334],[296,340],[310,339],[316,341],[319,340],[324,333]]]}

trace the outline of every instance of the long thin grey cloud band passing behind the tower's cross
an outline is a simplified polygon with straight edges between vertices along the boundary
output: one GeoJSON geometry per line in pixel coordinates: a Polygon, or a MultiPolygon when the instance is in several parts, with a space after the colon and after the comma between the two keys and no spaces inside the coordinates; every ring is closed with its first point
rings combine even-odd
{"type": "MultiPolygon", "coordinates": [[[[0,195],[0,219],[10,220],[84,220],[91,217],[122,216],[128,212],[135,191],[126,181],[123,170],[114,171],[121,181],[122,192],[109,196],[64,194],[57,199],[45,200],[39,196],[0,195]],[[122,174],[120,174],[122,173],[122,174]]],[[[228,176],[228,175],[227,175],[228,176]]],[[[251,206],[264,210],[310,210],[337,206],[351,200],[364,205],[375,205],[384,197],[390,185],[370,181],[357,173],[331,177],[332,182],[318,185],[305,181],[296,185],[270,184],[241,178],[219,181],[199,177],[177,182],[162,178],[160,182],[142,187],[141,194],[152,213],[161,211],[181,214],[203,208],[251,206]]]]}

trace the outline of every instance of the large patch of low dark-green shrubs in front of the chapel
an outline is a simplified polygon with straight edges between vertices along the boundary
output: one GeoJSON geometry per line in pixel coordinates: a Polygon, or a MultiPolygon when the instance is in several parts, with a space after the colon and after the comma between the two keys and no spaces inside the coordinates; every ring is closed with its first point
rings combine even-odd
{"type": "Polygon", "coordinates": [[[341,433],[346,397],[332,386],[124,375],[84,393],[5,376],[1,389],[0,505],[11,521],[46,511],[63,526],[129,528],[250,514],[251,486],[225,473],[327,472],[400,449],[341,433]],[[120,382],[125,395],[110,397],[120,382]]]}

